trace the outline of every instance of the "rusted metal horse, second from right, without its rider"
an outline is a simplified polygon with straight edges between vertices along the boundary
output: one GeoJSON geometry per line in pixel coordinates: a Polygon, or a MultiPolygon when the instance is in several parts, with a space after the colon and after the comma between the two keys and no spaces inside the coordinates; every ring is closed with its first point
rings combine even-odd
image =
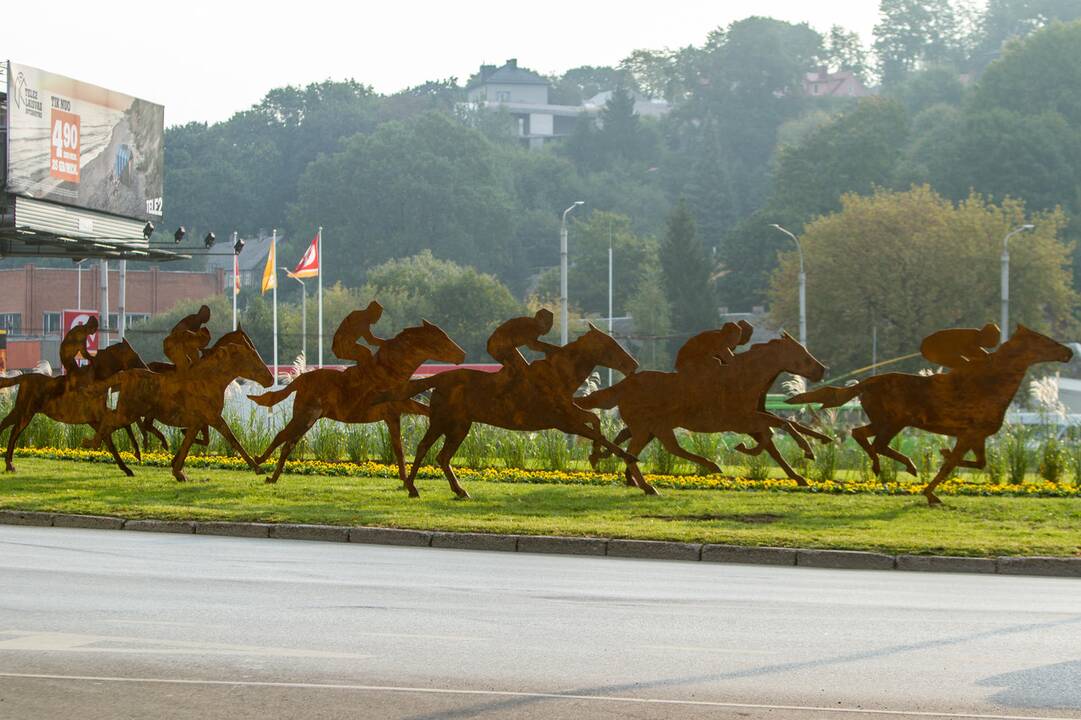
{"type": "MultiPolygon", "coordinates": [[[[804,454],[814,456],[806,440],[791,421],[764,409],[765,394],[780,373],[822,379],[826,368],[796,339],[783,333],[778,339],[752,345],[721,364],[717,360],[698,361],[677,373],[641,372],[598,390],[575,402],[582,408],[619,408],[626,428],[615,442],[630,440],[627,452],[638,455],[654,438],[665,450],[706,468],[721,468],[708,457],[692,453],[679,444],[676,428],[694,432],[744,432],[758,445],[736,450],[758,454],[764,449],[797,484],[806,479],[785,461],[773,442],[773,429],[783,429],[799,443],[804,454]]],[[[818,434],[815,434],[818,437],[818,434]]],[[[826,437],[826,436],[820,436],[826,437]]],[[[827,438],[828,439],[828,438],[827,438]]],[[[627,484],[631,483],[628,477],[627,484]]]]}

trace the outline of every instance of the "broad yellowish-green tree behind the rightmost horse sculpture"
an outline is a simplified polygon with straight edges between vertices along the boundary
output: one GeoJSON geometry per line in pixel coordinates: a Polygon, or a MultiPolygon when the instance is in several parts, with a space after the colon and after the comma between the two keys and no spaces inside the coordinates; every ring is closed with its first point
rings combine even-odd
{"type": "MultiPolygon", "coordinates": [[[[1060,334],[1072,326],[1077,295],[1069,248],[1059,240],[1060,211],[1026,216],[1024,205],[973,195],[953,204],[930,187],[848,195],[842,210],[803,230],[808,274],[808,344],[833,372],[918,350],[924,336],[998,319],[1002,238],[1018,225],[1036,229],[1011,253],[1014,322],[1060,334]]],[[[797,324],[798,259],[782,255],[770,285],[774,320],[797,324]]]]}

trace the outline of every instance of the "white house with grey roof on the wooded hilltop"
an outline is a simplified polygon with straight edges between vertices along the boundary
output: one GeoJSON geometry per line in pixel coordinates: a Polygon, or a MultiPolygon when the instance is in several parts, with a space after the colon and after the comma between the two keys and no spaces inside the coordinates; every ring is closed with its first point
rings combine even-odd
{"type": "MultiPolygon", "coordinates": [[[[611,92],[600,93],[584,105],[551,105],[548,81],[533,70],[519,67],[518,59],[511,57],[502,67],[481,65],[480,72],[466,88],[466,95],[472,107],[509,114],[522,143],[538,148],[555,137],[570,135],[582,114],[597,116],[611,92]]],[[[635,101],[635,110],[643,117],[656,117],[668,110],[664,101],[638,96],[635,101]]]]}

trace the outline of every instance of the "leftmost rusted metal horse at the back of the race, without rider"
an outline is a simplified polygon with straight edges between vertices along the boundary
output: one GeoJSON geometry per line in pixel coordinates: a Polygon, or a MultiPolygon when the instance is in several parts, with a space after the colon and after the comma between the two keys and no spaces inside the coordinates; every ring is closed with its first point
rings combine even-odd
{"type": "MultiPolygon", "coordinates": [[[[4,428],[11,428],[8,450],[4,453],[8,472],[15,471],[13,464],[15,443],[35,415],[44,413],[57,423],[85,424],[96,429],[106,411],[108,399],[108,388],[102,381],[125,370],[145,368],[138,354],[128,341],[123,341],[103,349],[89,366],[78,369],[74,373],[74,384],[70,387],[68,377],[64,375],[53,377],[41,373],[27,373],[16,377],[0,378],[0,389],[13,386],[18,388],[15,406],[0,421],[0,432],[3,432],[4,428]]],[[[138,443],[135,442],[131,427],[124,426],[124,431],[131,439],[135,456],[141,457],[138,443]]],[[[120,469],[131,475],[131,470],[124,465],[116,445],[112,444],[111,437],[103,438],[103,441],[120,469]]]]}

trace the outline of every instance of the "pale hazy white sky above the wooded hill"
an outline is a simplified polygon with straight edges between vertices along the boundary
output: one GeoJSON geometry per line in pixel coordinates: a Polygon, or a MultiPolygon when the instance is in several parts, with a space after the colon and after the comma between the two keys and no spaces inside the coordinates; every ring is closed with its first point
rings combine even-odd
{"type": "Polygon", "coordinates": [[[482,63],[509,57],[545,74],[615,65],[636,49],[702,44],[711,29],[756,14],[819,31],[842,25],[870,44],[878,4],[101,0],[91,11],[85,0],[5,2],[0,59],[161,103],[173,125],[225,120],[271,88],[325,79],[352,78],[393,93],[426,80],[464,82],[482,63]]]}

